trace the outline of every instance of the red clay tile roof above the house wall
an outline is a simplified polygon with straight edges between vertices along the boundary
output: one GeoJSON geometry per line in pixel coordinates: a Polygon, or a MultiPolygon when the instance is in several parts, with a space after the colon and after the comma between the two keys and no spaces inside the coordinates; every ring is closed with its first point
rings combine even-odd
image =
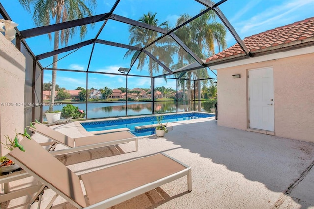
{"type": "MultiPolygon", "coordinates": [[[[309,41],[314,41],[314,17],[246,37],[243,43],[254,54],[309,41]]],[[[239,56],[245,56],[245,53],[239,44],[235,44],[207,58],[206,62],[210,63],[212,61],[232,59],[239,56]]]]}

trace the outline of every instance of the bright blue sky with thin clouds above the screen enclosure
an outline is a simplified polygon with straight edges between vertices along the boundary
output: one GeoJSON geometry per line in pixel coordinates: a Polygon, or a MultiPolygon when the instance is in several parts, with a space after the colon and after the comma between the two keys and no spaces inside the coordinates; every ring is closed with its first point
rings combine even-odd
{"type": "MultiPolygon", "coordinates": [[[[7,11],[10,18],[19,24],[17,28],[20,31],[36,27],[32,20],[32,14],[26,12],[19,4],[18,0],[1,0],[0,3],[7,11]]],[[[97,0],[97,8],[93,14],[103,14],[109,12],[115,0],[97,0]]],[[[157,12],[159,23],[168,21],[171,26],[175,26],[176,20],[182,14],[195,16],[205,7],[194,0],[121,0],[114,14],[138,20],[143,14],[149,11],[157,12]]],[[[285,26],[297,21],[304,20],[314,16],[314,0],[228,0],[219,6],[219,9],[229,20],[239,37],[243,40],[245,37],[258,34],[276,27],[285,26]]],[[[219,22],[219,18],[217,19],[219,22]]],[[[95,24],[94,28],[88,27],[88,34],[84,40],[95,38],[98,29],[103,22],[95,24]]],[[[77,33],[79,34],[79,33],[77,33]]],[[[129,44],[129,32],[126,24],[109,20],[104,30],[98,37],[103,40],[113,41],[123,44],[129,44]]],[[[227,47],[236,43],[231,33],[226,36],[227,47]]],[[[69,40],[68,45],[81,42],[79,36],[69,40]]],[[[53,50],[53,42],[49,41],[48,35],[37,36],[26,39],[26,43],[35,55],[53,50]]],[[[64,46],[61,46],[62,48],[64,46]]],[[[74,69],[84,71],[88,67],[89,54],[92,45],[85,46],[77,51],[71,51],[59,55],[66,58],[58,61],[58,68],[74,69]],[[70,59],[71,58],[71,59],[70,59]]],[[[124,58],[126,49],[111,47],[103,44],[95,45],[93,57],[90,61],[90,71],[118,73],[119,67],[128,68],[131,62],[131,56],[124,58]]],[[[217,52],[216,52],[217,53],[217,52]]],[[[43,67],[52,68],[52,57],[40,61],[43,67]]],[[[137,63],[136,63],[137,64],[137,63]]],[[[214,70],[214,69],[212,69],[214,70]]],[[[132,68],[132,74],[148,75],[147,70],[142,71],[132,68]]],[[[160,74],[160,73],[159,73],[160,74]]],[[[209,71],[210,76],[213,75],[209,71]]],[[[44,71],[44,82],[51,80],[51,71],[44,71]]],[[[58,71],[57,84],[68,90],[76,89],[78,86],[86,88],[86,79],[88,88],[96,89],[108,86],[111,89],[124,87],[126,78],[124,76],[88,74],[80,72],[58,71]]],[[[135,87],[149,88],[150,78],[128,77],[128,88],[135,87]]],[[[175,81],[156,79],[157,86],[166,86],[176,89],[175,81]]]]}

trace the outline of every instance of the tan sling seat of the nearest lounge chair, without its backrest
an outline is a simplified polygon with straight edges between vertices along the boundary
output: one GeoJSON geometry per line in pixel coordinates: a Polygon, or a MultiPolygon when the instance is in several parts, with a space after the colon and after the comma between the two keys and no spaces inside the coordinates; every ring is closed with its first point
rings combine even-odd
{"type": "Polygon", "coordinates": [[[184,169],[178,162],[157,154],[82,174],[81,179],[93,205],[184,169]]]}

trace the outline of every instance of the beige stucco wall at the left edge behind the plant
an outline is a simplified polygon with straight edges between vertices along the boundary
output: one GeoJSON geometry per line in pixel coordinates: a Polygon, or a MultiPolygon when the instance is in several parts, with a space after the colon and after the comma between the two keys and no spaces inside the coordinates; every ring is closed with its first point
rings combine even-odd
{"type": "MultiPolygon", "coordinates": [[[[0,139],[14,139],[24,126],[25,57],[0,33],[0,139]]],[[[1,155],[9,151],[1,145],[1,155]]]]}

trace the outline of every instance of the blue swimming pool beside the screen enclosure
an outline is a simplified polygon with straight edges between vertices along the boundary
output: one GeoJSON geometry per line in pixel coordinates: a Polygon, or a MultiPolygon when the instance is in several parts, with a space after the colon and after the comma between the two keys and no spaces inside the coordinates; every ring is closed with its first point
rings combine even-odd
{"type": "MultiPolygon", "coordinates": [[[[214,114],[204,112],[189,112],[189,113],[176,113],[163,115],[162,123],[184,121],[197,118],[213,117],[214,114]]],[[[144,128],[135,129],[136,126],[152,125],[157,124],[156,115],[145,116],[145,117],[132,117],[132,118],[120,118],[114,120],[102,120],[93,122],[81,122],[84,129],[88,132],[97,131],[101,132],[104,130],[111,129],[123,129],[128,128],[129,131],[136,136],[147,136],[155,134],[155,128],[144,128]]]]}

